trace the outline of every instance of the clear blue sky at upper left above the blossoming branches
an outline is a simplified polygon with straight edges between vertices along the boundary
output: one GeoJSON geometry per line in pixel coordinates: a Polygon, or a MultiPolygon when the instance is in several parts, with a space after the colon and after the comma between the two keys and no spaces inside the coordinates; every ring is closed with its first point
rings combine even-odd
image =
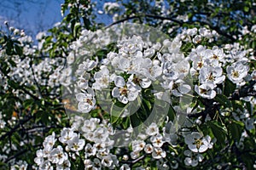
{"type": "MultiPolygon", "coordinates": [[[[97,11],[102,10],[104,2],[114,0],[92,2],[97,3],[97,11]]],[[[56,22],[61,21],[61,3],[64,3],[64,0],[0,0],[0,26],[8,20],[9,26],[23,29],[26,34],[35,36],[38,31],[47,31],[56,22]]],[[[98,15],[97,20],[109,24],[112,16],[98,15]]]]}

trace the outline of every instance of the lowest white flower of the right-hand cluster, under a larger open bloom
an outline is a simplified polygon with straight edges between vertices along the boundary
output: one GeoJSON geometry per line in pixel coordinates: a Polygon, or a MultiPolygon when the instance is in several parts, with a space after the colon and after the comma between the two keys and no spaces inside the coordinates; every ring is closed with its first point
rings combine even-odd
{"type": "Polygon", "coordinates": [[[203,98],[213,99],[216,96],[216,92],[213,88],[215,88],[213,82],[206,82],[201,84],[201,86],[195,85],[195,92],[203,98]]]}

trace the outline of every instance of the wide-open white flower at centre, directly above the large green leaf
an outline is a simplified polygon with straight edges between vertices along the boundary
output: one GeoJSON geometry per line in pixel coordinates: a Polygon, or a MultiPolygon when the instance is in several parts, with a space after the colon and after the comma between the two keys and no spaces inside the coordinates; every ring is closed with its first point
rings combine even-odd
{"type": "Polygon", "coordinates": [[[115,77],[114,78],[115,88],[112,90],[112,96],[117,98],[121,103],[127,104],[129,101],[133,101],[137,99],[138,90],[136,85],[128,81],[125,83],[125,79],[123,77],[115,77]]]}

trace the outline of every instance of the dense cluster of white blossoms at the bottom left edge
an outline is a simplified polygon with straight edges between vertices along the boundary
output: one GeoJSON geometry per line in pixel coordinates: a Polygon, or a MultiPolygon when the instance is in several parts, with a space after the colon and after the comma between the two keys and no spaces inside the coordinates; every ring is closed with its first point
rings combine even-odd
{"type": "Polygon", "coordinates": [[[57,139],[55,133],[44,139],[44,149],[37,151],[35,162],[39,169],[71,169],[71,161],[83,156],[85,169],[119,165],[117,157],[110,150],[113,140],[109,138],[113,128],[100,119],[83,119],[77,116],[72,127],[64,127],[57,139]],[[86,141],[86,142],[85,142],[86,141]],[[54,147],[56,144],[56,147],[54,147]]]}

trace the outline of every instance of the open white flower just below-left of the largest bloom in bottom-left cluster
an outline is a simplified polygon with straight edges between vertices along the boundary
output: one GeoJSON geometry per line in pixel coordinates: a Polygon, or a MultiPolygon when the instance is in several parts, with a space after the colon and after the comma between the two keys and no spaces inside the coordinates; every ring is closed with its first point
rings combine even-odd
{"type": "Polygon", "coordinates": [[[61,145],[58,145],[57,148],[51,150],[49,154],[49,161],[55,164],[62,164],[67,158],[67,153],[63,151],[61,145]]]}

